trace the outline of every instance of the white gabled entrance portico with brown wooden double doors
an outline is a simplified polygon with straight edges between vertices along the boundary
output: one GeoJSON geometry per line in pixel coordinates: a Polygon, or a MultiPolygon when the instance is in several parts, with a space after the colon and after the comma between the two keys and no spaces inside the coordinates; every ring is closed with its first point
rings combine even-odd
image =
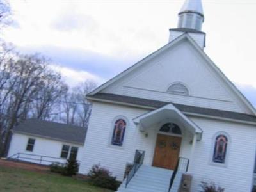
{"type": "Polygon", "coordinates": [[[152,166],[174,170],[179,157],[192,161],[196,141],[202,138],[202,129],[173,104],[138,116],[133,122],[147,143],[141,143],[140,140],[136,148],[148,149],[145,153],[148,156],[146,163],[152,166]]]}

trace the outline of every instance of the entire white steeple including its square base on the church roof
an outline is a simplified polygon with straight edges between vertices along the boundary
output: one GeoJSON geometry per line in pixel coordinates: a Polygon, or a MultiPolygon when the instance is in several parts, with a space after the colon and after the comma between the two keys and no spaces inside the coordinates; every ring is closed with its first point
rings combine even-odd
{"type": "Polygon", "coordinates": [[[201,0],[186,0],[179,12],[178,28],[170,30],[169,42],[172,42],[180,35],[188,33],[196,44],[204,49],[205,33],[201,31],[204,22],[204,12],[201,0]]]}

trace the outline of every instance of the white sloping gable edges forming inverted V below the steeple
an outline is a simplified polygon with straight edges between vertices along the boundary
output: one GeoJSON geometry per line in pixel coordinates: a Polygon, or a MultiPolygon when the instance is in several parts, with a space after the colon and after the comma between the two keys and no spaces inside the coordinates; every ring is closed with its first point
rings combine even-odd
{"type": "Polygon", "coordinates": [[[209,58],[209,56],[207,56],[207,54],[205,54],[205,52],[202,51],[202,49],[196,44],[195,40],[193,40],[193,38],[191,38],[191,36],[188,33],[184,33],[183,35],[180,35],[179,37],[177,37],[172,42],[169,42],[168,44],[164,45],[163,47],[161,47],[157,51],[155,51],[152,54],[148,55],[147,57],[143,58],[143,60],[138,61],[138,63],[135,63],[134,65],[132,65],[131,67],[127,68],[126,70],[124,70],[123,72],[121,72],[117,76],[113,77],[112,79],[110,79],[106,83],[102,84],[101,86],[99,86],[98,88],[93,90],[92,92],[88,93],[88,96],[95,95],[96,93],[99,93],[100,91],[104,90],[104,88],[108,87],[109,85],[111,85],[111,84],[115,83],[116,81],[118,81],[120,78],[122,78],[122,77],[126,76],[127,74],[129,74],[130,72],[132,72],[132,70],[135,70],[136,68],[138,68],[141,65],[143,65],[144,63],[146,63],[148,60],[154,58],[155,56],[157,56],[161,52],[165,51],[166,49],[169,49],[170,47],[172,47],[173,45],[177,44],[178,42],[180,42],[181,40],[184,40],[184,39],[188,40],[188,42],[190,42],[191,45],[193,45],[193,47],[195,47],[196,51],[198,51],[200,53],[200,55],[207,61],[207,63],[209,63],[209,65],[221,77],[221,79],[223,79],[223,81],[225,81],[225,83],[231,88],[231,90],[234,93],[236,93],[236,95],[239,97],[239,99],[241,99],[243,104],[245,106],[247,106],[248,109],[250,109],[250,111],[253,113],[253,115],[256,115],[256,109],[252,106],[252,104],[248,101],[248,99],[246,99],[246,97],[244,97],[244,95],[225,76],[225,74],[223,74],[223,72],[221,72],[220,68],[218,68],[214,64],[214,62],[209,58]]]}

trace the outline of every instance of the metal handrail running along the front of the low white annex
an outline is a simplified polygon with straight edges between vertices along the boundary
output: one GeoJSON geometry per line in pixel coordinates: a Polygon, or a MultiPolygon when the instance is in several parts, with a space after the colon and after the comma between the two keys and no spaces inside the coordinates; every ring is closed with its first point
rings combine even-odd
{"type": "Polygon", "coordinates": [[[16,159],[16,160],[22,160],[22,159],[28,159],[28,160],[35,160],[38,161],[38,164],[42,164],[42,162],[47,162],[47,163],[56,163],[58,160],[65,161],[66,159],[63,158],[58,158],[58,157],[51,157],[51,156],[40,156],[36,154],[26,154],[26,153],[17,153],[13,154],[10,157],[7,157],[7,159],[16,159]],[[23,157],[22,157],[23,155],[23,157]],[[30,156],[30,157],[24,157],[24,156],[30,156]],[[32,157],[31,157],[32,156],[32,157]],[[39,157],[39,158],[33,158],[33,157],[39,157]],[[54,160],[47,160],[44,158],[48,159],[54,159],[54,160]]]}

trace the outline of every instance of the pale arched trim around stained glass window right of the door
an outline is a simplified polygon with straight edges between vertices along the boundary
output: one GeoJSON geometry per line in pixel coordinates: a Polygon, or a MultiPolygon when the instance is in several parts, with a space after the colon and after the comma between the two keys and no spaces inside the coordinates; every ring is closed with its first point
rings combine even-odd
{"type": "Polygon", "coordinates": [[[212,138],[212,146],[211,146],[211,156],[210,156],[210,164],[215,165],[215,166],[223,166],[227,167],[228,166],[228,159],[229,159],[229,152],[230,152],[230,146],[231,146],[231,138],[227,132],[220,131],[216,132],[212,138]],[[214,156],[214,150],[215,150],[215,144],[216,144],[216,139],[218,136],[223,135],[227,138],[227,149],[226,149],[226,154],[225,154],[225,162],[224,163],[216,163],[213,161],[213,156],[214,156]]]}

